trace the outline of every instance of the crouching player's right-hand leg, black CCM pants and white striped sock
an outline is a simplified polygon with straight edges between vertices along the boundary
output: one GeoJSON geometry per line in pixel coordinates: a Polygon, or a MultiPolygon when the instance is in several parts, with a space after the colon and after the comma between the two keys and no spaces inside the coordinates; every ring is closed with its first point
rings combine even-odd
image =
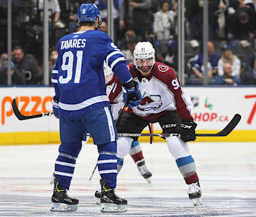
{"type": "MultiPolygon", "coordinates": [[[[180,118],[177,113],[161,116],[159,123],[164,133],[177,133],[180,131],[180,118]]],[[[194,205],[201,205],[201,187],[196,172],[196,165],[189,153],[188,143],[185,143],[178,136],[166,137],[167,146],[174,157],[180,173],[188,185],[188,195],[194,205]]]]}

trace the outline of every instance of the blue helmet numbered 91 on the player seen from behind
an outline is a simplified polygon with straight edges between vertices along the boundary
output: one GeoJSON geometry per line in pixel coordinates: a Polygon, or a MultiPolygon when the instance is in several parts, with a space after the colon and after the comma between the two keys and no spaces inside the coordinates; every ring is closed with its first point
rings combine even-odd
{"type": "Polygon", "coordinates": [[[98,26],[101,25],[100,10],[95,4],[82,4],[78,9],[77,16],[78,22],[89,21],[94,23],[96,18],[99,18],[98,26]]]}

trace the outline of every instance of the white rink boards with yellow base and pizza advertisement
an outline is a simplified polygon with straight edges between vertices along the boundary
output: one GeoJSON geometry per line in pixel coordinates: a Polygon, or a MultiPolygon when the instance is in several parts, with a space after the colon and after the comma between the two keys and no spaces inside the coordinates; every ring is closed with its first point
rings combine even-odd
{"type": "MultiPolygon", "coordinates": [[[[185,87],[194,104],[193,116],[197,133],[215,133],[223,129],[233,116],[242,115],[241,121],[227,137],[198,137],[196,141],[256,141],[255,87],[185,87]]],[[[3,87],[0,91],[1,124],[0,145],[59,143],[59,123],[54,116],[19,121],[11,103],[16,98],[24,115],[51,112],[51,87],[3,87]]],[[[162,132],[153,124],[154,132],[162,132]]],[[[145,129],[143,132],[148,132],[145,129]]],[[[148,137],[141,137],[149,141],[148,137]]],[[[155,141],[164,141],[154,137],[155,141]]]]}

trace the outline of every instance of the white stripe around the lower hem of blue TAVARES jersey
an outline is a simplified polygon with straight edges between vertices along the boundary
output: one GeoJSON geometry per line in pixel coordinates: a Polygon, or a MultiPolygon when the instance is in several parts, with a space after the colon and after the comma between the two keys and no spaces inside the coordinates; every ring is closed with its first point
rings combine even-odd
{"type": "Polygon", "coordinates": [[[101,95],[101,96],[92,97],[90,99],[86,99],[86,101],[78,104],[66,104],[66,103],[59,102],[59,107],[63,110],[75,111],[75,110],[81,110],[95,103],[106,102],[106,101],[109,102],[108,96],[101,95]]]}

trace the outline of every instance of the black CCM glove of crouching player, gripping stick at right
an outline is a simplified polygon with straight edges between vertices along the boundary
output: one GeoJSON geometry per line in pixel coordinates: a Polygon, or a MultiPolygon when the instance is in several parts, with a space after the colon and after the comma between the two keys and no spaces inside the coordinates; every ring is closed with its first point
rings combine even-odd
{"type": "Polygon", "coordinates": [[[183,141],[195,141],[196,140],[196,129],[197,124],[189,119],[181,120],[180,124],[180,138],[183,141]]]}

